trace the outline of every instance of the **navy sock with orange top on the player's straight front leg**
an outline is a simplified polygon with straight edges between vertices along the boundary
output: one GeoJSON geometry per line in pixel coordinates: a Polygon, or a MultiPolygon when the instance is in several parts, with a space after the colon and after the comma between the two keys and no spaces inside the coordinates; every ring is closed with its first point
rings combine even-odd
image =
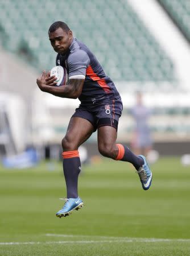
{"type": "Polygon", "coordinates": [[[78,197],[78,177],[81,170],[79,151],[63,152],[63,171],[67,186],[67,198],[78,197]]]}

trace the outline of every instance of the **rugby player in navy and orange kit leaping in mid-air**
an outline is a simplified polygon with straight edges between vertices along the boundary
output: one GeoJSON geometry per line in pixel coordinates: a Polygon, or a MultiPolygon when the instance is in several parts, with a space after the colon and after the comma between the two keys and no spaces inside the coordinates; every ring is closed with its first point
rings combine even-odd
{"type": "Polygon", "coordinates": [[[79,98],[81,104],[72,115],[62,140],[63,170],[67,186],[67,199],[57,217],[68,216],[83,206],[78,196],[77,183],[81,170],[79,146],[97,130],[100,154],[114,160],[130,162],[137,170],[144,190],[150,188],[152,173],[143,155],[134,155],[123,145],[116,144],[118,120],[122,113],[121,97],[113,81],[106,76],[100,63],[84,43],[73,38],[64,22],[49,27],[51,46],[57,52],[56,65],[67,69],[69,82],[55,86],[56,77],[43,71],[37,79],[39,89],[57,97],[79,98]]]}

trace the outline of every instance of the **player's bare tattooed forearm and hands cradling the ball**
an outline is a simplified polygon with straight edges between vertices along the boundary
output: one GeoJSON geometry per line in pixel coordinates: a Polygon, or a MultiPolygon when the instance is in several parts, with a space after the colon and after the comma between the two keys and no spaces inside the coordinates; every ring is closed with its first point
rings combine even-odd
{"type": "Polygon", "coordinates": [[[51,93],[61,98],[78,98],[82,92],[84,79],[70,79],[69,84],[63,86],[56,85],[56,77],[49,76],[49,73],[43,71],[42,75],[38,77],[37,84],[42,92],[51,93]]]}

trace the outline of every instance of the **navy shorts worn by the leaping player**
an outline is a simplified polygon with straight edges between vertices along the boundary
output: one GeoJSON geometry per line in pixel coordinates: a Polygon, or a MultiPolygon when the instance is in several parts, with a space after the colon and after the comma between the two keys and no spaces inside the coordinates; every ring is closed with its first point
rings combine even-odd
{"type": "Polygon", "coordinates": [[[121,98],[104,100],[94,104],[80,104],[72,117],[81,117],[88,120],[94,126],[94,131],[101,126],[112,126],[117,130],[122,110],[121,98]]]}

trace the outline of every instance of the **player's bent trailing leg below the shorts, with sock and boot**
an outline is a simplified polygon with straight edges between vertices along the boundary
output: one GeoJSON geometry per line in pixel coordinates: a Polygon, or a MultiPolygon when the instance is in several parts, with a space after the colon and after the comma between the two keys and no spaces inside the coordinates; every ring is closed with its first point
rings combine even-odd
{"type": "Polygon", "coordinates": [[[116,144],[117,130],[111,126],[98,128],[98,150],[108,158],[122,160],[133,164],[141,179],[142,187],[147,190],[151,185],[152,174],[143,155],[135,155],[125,145],[116,144]]]}

